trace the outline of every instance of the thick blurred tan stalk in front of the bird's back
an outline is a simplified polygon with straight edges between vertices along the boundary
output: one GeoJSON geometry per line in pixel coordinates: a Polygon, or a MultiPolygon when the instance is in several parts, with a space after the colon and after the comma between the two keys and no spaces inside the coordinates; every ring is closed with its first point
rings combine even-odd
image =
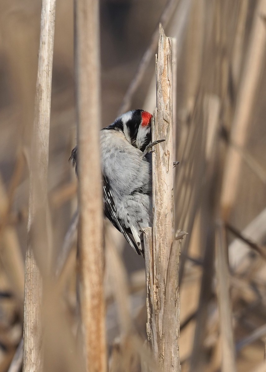
{"type": "Polygon", "coordinates": [[[86,369],[105,372],[107,356],[103,287],[103,207],[99,152],[99,2],[76,0],[75,17],[81,315],[86,369]]]}

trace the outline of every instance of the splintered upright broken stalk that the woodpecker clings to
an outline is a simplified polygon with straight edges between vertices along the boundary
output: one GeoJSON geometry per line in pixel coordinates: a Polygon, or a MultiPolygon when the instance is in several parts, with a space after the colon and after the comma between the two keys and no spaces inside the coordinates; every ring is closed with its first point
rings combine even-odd
{"type": "MultiPolygon", "coordinates": [[[[174,240],[174,203],[173,203],[173,117],[172,117],[172,40],[165,36],[159,26],[159,45],[156,61],[156,105],[153,113],[152,140],[165,139],[155,146],[152,156],[152,193],[153,193],[153,294],[157,331],[158,359],[164,371],[178,371],[178,348],[175,355],[169,356],[176,345],[179,326],[170,329],[167,322],[175,314],[167,314],[165,294],[167,270],[171,244],[174,240]],[[165,314],[168,318],[165,318],[165,314]],[[165,326],[166,325],[166,326],[165,326]],[[167,337],[167,340],[165,339],[167,337]],[[165,354],[166,352],[166,354],[165,354]],[[177,359],[175,359],[177,357],[177,359]],[[175,359],[175,360],[172,360],[175,359]]],[[[177,273],[172,273],[178,275],[177,273]]]]}

